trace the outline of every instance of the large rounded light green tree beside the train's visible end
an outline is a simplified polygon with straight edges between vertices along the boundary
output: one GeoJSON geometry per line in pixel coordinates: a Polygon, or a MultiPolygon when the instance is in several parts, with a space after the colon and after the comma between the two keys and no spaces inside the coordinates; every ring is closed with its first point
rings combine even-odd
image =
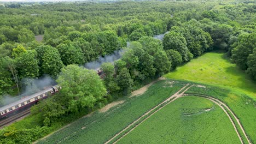
{"type": "Polygon", "coordinates": [[[77,112],[84,107],[93,107],[96,101],[107,93],[103,82],[94,70],[68,65],[63,68],[59,78],[61,93],[68,110],[77,112]]]}

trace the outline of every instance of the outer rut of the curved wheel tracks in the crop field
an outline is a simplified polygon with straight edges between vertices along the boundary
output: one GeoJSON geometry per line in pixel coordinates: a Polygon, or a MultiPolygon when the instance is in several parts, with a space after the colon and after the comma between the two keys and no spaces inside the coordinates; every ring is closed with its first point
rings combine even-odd
{"type": "Polygon", "coordinates": [[[242,127],[242,124],[241,122],[239,121],[239,119],[236,117],[236,115],[234,114],[234,112],[232,112],[229,108],[228,105],[226,105],[225,103],[223,103],[222,101],[216,99],[216,98],[213,98],[209,95],[203,95],[203,94],[184,94],[184,95],[194,95],[194,96],[198,96],[198,97],[202,97],[202,98],[207,98],[207,99],[211,99],[211,100],[214,100],[216,101],[216,103],[219,103],[220,105],[224,106],[230,113],[231,115],[235,118],[236,122],[238,123],[239,127],[241,128],[241,130],[243,131],[243,135],[245,135],[246,137],[246,140],[248,143],[252,144],[252,142],[249,140],[246,132],[245,132],[245,129],[242,127]]]}

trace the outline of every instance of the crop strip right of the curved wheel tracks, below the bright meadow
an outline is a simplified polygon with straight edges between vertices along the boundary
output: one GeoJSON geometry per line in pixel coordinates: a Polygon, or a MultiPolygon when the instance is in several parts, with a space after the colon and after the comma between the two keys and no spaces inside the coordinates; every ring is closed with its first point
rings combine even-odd
{"type": "Polygon", "coordinates": [[[191,87],[186,93],[205,94],[223,101],[235,113],[249,139],[256,142],[256,101],[245,93],[206,85],[206,88],[191,87]]]}

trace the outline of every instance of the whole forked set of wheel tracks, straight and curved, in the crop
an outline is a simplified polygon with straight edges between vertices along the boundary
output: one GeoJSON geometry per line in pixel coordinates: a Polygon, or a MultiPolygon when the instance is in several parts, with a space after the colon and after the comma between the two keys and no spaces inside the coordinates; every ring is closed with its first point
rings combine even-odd
{"type": "Polygon", "coordinates": [[[117,135],[115,135],[114,137],[112,137],[110,140],[108,140],[107,142],[105,142],[105,144],[107,143],[117,143],[120,139],[122,139],[124,136],[126,136],[127,134],[129,134],[133,129],[135,129],[136,127],[138,127],[139,124],[141,124],[142,122],[146,121],[146,119],[148,119],[149,117],[151,117],[152,115],[154,115],[154,113],[158,112],[159,110],[161,110],[163,107],[165,107],[166,105],[172,103],[174,100],[184,97],[184,96],[196,96],[196,97],[202,97],[208,100],[211,100],[213,103],[217,104],[225,113],[226,115],[229,117],[230,122],[232,123],[236,134],[238,136],[238,138],[240,139],[241,143],[244,143],[242,140],[241,135],[238,133],[237,127],[235,125],[234,119],[232,119],[232,117],[230,116],[229,112],[231,113],[231,115],[235,118],[235,121],[238,123],[239,127],[242,130],[243,135],[245,135],[246,140],[249,144],[252,144],[252,142],[248,139],[247,134],[245,133],[245,129],[243,129],[242,124],[240,123],[239,119],[236,117],[236,115],[234,114],[234,112],[232,112],[230,110],[230,108],[224,104],[222,101],[210,97],[208,95],[203,95],[203,94],[192,94],[192,93],[187,93],[184,94],[191,86],[186,85],[183,88],[181,88],[178,92],[176,92],[175,94],[173,94],[171,97],[169,97],[168,99],[166,99],[165,101],[163,101],[161,104],[156,105],[155,107],[153,107],[153,109],[149,110],[148,112],[146,112],[144,115],[142,115],[141,117],[139,117],[138,119],[136,119],[136,121],[134,121],[133,123],[131,123],[130,125],[128,125],[125,129],[123,129],[122,131],[120,131],[117,135]],[[186,88],[187,87],[187,88],[186,88]],[[186,89],[185,89],[186,88],[186,89]]]}

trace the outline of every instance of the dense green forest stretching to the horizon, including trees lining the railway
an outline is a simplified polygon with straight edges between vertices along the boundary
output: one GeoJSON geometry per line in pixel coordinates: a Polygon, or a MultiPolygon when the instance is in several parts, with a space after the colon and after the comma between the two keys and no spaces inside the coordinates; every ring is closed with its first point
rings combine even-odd
{"type": "Polygon", "coordinates": [[[0,5],[0,100],[45,75],[62,86],[32,107],[36,128],[1,130],[0,142],[37,140],[207,51],[226,52],[256,80],[255,11],[255,1],[0,5]],[[84,68],[117,50],[123,57],[101,65],[104,80],[84,68]]]}

